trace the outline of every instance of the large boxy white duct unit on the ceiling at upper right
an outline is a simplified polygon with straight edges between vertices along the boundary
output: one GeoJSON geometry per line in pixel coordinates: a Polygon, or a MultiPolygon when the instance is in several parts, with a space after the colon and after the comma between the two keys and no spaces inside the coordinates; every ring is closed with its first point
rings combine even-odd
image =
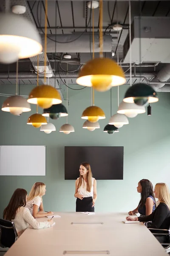
{"type": "MultiPolygon", "coordinates": [[[[134,17],[131,31],[133,63],[170,63],[170,17],[134,17]]],[[[130,63],[129,34],[123,55],[130,63]]]]}

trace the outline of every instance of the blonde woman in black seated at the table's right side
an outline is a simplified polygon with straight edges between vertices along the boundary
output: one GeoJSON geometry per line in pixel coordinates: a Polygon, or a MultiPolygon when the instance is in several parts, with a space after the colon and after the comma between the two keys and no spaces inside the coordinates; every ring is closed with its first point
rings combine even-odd
{"type": "Polygon", "coordinates": [[[154,190],[155,197],[159,200],[158,207],[148,216],[126,217],[127,221],[152,221],[150,228],[166,229],[170,228],[170,192],[167,184],[157,183],[154,190]]]}

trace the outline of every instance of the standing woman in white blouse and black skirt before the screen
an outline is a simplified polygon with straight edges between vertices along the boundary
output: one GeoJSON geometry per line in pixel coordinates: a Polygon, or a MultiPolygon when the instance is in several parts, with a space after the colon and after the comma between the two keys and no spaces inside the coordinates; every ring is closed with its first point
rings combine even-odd
{"type": "Polygon", "coordinates": [[[80,176],[75,182],[76,212],[94,212],[97,199],[97,185],[92,177],[91,166],[83,162],[79,168],[80,176]]]}

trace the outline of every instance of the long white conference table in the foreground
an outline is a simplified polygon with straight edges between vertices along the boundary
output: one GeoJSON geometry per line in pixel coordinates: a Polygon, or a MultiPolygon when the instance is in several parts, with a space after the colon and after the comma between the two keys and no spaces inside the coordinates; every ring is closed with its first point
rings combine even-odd
{"type": "MultiPolygon", "coordinates": [[[[127,216],[125,213],[55,214],[61,218],[54,218],[54,226],[41,230],[28,228],[5,255],[62,256],[64,251],[80,251],[77,254],[71,252],[71,255],[82,256],[85,255],[82,251],[88,251],[88,255],[106,255],[109,252],[111,256],[167,256],[143,223],[122,222],[127,216]],[[95,251],[105,252],[94,254],[95,251]]],[[[47,218],[38,219],[45,220],[47,218]]]]}

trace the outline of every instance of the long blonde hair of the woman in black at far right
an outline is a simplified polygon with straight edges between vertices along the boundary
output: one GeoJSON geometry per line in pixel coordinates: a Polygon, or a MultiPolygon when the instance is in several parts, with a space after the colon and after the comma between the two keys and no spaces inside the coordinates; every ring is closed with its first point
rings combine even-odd
{"type": "Polygon", "coordinates": [[[155,190],[160,203],[164,203],[170,209],[170,191],[166,183],[156,183],[155,190]]]}

